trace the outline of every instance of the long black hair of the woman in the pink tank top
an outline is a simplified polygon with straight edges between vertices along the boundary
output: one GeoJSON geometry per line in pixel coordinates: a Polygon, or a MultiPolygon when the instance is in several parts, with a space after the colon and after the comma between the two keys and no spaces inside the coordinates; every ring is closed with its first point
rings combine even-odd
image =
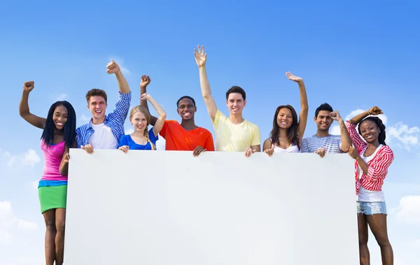
{"type": "Polygon", "coordinates": [[[68,113],[67,121],[63,127],[64,143],[68,148],[74,148],[76,146],[76,112],[67,101],[57,101],[50,106],[41,139],[46,145],[50,145],[54,141],[55,124],[52,121],[52,115],[54,115],[54,110],[58,106],[64,106],[68,113]]]}

